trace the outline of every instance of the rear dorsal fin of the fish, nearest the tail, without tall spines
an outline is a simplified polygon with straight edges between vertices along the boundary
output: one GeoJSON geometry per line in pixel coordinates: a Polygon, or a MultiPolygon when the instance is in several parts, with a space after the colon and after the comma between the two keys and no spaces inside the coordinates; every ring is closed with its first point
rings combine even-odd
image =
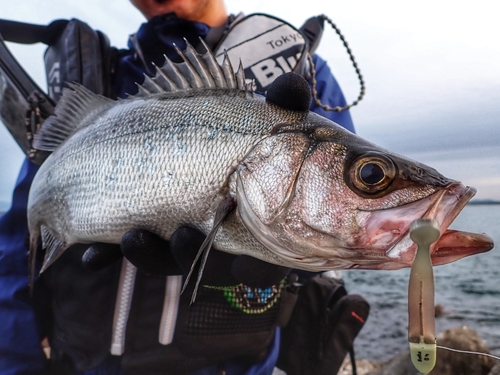
{"type": "Polygon", "coordinates": [[[85,126],[85,117],[101,113],[116,103],[80,84],[70,83],[68,86],[63,89],[54,115],[44,121],[35,135],[33,146],[37,150],[54,151],[77,128],[85,126]]]}

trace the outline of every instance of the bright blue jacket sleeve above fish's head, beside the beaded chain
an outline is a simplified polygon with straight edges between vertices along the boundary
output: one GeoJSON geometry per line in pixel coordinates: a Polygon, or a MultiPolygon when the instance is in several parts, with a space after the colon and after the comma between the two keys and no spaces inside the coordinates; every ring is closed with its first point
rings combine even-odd
{"type": "MultiPolygon", "coordinates": [[[[314,68],[316,70],[316,91],[321,103],[330,107],[345,106],[346,101],[344,94],[340,89],[335,77],[330,71],[327,63],[318,55],[313,55],[314,68]]],[[[349,110],[342,112],[326,111],[319,107],[313,99],[310,107],[311,111],[329,118],[330,120],[342,125],[347,130],[355,133],[354,124],[352,122],[349,110]]]]}

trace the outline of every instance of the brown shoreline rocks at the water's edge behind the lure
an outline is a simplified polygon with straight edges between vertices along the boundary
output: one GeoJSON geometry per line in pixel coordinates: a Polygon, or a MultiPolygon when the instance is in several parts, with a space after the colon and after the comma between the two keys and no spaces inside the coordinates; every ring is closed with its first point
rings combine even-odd
{"type": "MultiPolygon", "coordinates": [[[[476,331],[457,327],[441,332],[439,346],[491,354],[486,343],[476,331]]],[[[358,375],[419,375],[405,350],[387,362],[379,363],[361,359],[356,361],[358,375]]],[[[352,375],[350,359],[344,361],[338,375],[352,375]]],[[[438,348],[437,362],[429,375],[500,375],[500,361],[478,354],[465,354],[438,348]]]]}

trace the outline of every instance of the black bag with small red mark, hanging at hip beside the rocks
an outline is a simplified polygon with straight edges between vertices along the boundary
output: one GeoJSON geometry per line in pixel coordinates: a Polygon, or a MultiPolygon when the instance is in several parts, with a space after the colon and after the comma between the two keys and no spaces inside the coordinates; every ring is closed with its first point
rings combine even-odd
{"type": "Polygon", "coordinates": [[[342,281],[317,275],[289,283],[297,302],[282,329],[277,367],[287,375],[335,375],[350,353],[356,374],[353,343],[368,318],[370,306],[361,296],[347,294],[342,281]]]}

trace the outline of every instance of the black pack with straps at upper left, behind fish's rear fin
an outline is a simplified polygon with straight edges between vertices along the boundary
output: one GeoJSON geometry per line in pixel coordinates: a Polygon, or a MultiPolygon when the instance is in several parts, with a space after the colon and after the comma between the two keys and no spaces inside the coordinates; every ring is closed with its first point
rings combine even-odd
{"type": "Polygon", "coordinates": [[[47,26],[0,19],[0,120],[32,162],[40,165],[49,155],[33,149],[33,136],[54,112],[66,82],[116,96],[111,92],[109,72],[117,53],[105,34],[77,19],[56,20],[47,26]],[[4,39],[48,45],[44,56],[47,94],[16,61],[4,39]]]}

